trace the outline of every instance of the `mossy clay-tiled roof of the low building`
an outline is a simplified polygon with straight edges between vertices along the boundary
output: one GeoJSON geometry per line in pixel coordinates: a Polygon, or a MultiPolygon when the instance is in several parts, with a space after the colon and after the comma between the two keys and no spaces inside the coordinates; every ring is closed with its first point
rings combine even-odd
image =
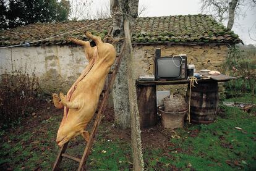
{"type": "MultiPolygon", "coordinates": [[[[83,31],[90,30],[102,38],[111,29],[111,19],[84,20],[78,22],[35,23],[11,30],[0,31],[0,46],[42,40],[50,36],[72,31],[66,35],[31,44],[69,44],[69,37],[87,40],[83,31]],[[95,23],[98,22],[98,23],[95,23]],[[94,24],[92,24],[94,23],[94,24]],[[89,27],[87,27],[90,25],[89,27]]],[[[132,43],[241,43],[232,30],[216,22],[210,15],[175,15],[166,17],[140,17],[135,21],[132,43]]]]}

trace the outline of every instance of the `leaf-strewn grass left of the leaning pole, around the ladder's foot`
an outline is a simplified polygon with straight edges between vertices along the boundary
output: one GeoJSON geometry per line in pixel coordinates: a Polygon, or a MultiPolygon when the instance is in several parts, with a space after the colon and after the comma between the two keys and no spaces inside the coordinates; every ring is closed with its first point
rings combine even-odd
{"type": "MultiPolygon", "coordinates": [[[[0,141],[0,168],[2,164],[8,164],[14,170],[51,170],[59,152],[55,138],[61,117],[62,115],[53,116],[20,135],[1,131],[1,139],[5,137],[7,140],[0,141]]],[[[106,136],[109,125],[104,124],[100,125],[100,132],[87,161],[87,169],[129,170],[132,167],[129,142],[109,139],[106,136]]],[[[70,141],[67,154],[81,158],[85,145],[82,136],[77,136],[70,141]]],[[[63,170],[76,170],[78,166],[77,162],[67,159],[61,163],[63,170]]]]}

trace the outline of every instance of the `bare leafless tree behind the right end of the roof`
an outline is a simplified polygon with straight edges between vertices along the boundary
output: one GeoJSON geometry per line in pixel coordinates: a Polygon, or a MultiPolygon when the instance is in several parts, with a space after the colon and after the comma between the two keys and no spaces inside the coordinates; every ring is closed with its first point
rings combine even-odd
{"type": "Polygon", "coordinates": [[[202,12],[210,13],[219,22],[228,20],[229,29],[233,28],[235,16],[241,14],[241,6],[256,7],[255,0],[201,0],[201,4],[202,12]]]}

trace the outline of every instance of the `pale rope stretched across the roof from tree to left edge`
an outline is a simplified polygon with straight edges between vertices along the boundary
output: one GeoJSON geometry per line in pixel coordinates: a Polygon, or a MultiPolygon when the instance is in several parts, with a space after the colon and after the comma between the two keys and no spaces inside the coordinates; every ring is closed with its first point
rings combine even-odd
{"type": "MultiPolygon", "coordinates": [[[[116,13],[113,14],[112,16],[117,15],[117,14],[120,14],[120,13],[122,13],[122,12],[121,12],[121,11],[116,12],[116,13]]],[[[71,32],[73,32],[73,31],[81,30],[81,29],[83,29],[83,28],[85,28],[85,27],[89,27],[89,26],[94,25],[94,24],[96,24],[96,23],[100,23],[100,22],[102,22],[102,21],[104,21],[104,20],[108,20],[108,19],[98,20],[97,22],[94,22],[94,23],[91,23],[91,24],[89,24],[89,25],[86,25],[86,26],[77,28],[77,29],[75,29],[75,30],[67,31],[67,32],[65,32],[65,33],[61,33],[61,34],[55,35],[55,36],[50,36],[50,37],[48,37],[48,38],[44,38],[44,39],[41,39],[41,40],[31,41],[31,42],[29,42],[29,43],[27,43],[27,42],[26,42],[26,43],[20,43],[20,44],[16,44],[16,45],[12,45],[12,46],[0,47],[0,49],[14,48],[14,47],[17,47],[17,46],[30,46],[30,44],[32,44],[32,43],[37,43],[37,42],[40,42],[40,41],[49,40],[49,39],[51,39],[51,38],[56,38],[56,37],[58,37],[58,36],[66,35],[67,33],[71,33],[71,32]]]]}

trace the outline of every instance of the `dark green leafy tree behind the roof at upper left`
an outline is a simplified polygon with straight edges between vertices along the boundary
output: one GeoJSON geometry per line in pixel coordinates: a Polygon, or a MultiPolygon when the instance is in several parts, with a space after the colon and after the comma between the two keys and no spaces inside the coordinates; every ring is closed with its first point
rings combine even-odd
{"type": "Polygon", "coordinates": [[[67,0],[1,0],[1,28],[14,28],[36,22],[67,20],[70,4],[67,0]]]}

